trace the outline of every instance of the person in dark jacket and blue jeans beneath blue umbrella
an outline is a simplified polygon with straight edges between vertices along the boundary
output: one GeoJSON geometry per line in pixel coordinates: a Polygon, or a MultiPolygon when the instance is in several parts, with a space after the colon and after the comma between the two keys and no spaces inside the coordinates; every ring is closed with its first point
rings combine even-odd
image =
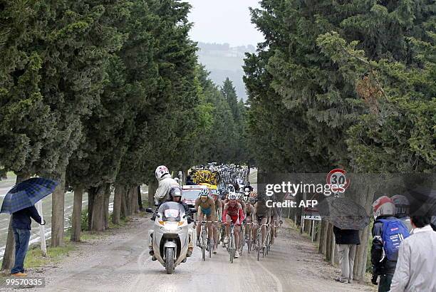
{"type": "Polygon", "coordinates": [[[15,239],[15,264],[14,268],[11,269],[12,276],[27,276],[24,273],[24,259],[26,258],[28,240],[30,239],[31,218],[42,224],[41,217],[35,206],[12,213],[12,229],[15,239]]]}

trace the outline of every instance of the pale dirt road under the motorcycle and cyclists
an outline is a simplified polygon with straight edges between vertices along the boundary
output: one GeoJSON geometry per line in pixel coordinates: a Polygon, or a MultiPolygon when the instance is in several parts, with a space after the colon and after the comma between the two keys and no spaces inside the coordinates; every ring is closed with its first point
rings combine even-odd
{"type": "Polygon", "coordinates": [[[256,261],[246,254],[229,263],[219,248],[201,261],[199,249],[167,275],[148,256],[149,218],[137,218],[104,239],[79,244],[58,268],[30,271],[46,278],[33,291],[371,291],[369,286],[337,283],[338,269],[317,254],[310,240],[283,226],[270,254],[256,261]]]}

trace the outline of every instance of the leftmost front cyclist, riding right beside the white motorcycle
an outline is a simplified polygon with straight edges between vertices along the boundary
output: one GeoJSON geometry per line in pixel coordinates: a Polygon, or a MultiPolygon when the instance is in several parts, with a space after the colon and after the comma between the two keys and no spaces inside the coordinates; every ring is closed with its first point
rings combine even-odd
{"type": "MultiPolygon", "coordinates": [[[[202,221],[204,216],[206,216],[207,221],[214,221],[215,202],[214,199],[209,197],[209,189],[202,189],[202,191],[199,193],[199,197],[195,200],[195,209],[197,210],[198,221],[202,221]]],[[[201,229],[201,224],[197,224],[197,246],[200,246],[199,234],[201,229]]],[[[207,223],[207,246],[210,244],[210,238],[212,234],[212,224],[207,223]]]]}

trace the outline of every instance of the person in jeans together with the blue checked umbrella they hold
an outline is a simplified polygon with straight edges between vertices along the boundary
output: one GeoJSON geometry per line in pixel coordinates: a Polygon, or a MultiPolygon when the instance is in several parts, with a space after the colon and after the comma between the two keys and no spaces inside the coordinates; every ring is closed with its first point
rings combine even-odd
{"type": "Polygon", "coordinates": [[[32,177],[16,184],[4,197],[0,213],[12,214],[11,226],[15,238],[15,264],[11,269],[12,276],[27,276],[24,273],[24,258],[30,239],[31,218],[43,225],[36,211],[36,202],[48,196],[56,189],[58,182],[42,177],[32,177]]]}

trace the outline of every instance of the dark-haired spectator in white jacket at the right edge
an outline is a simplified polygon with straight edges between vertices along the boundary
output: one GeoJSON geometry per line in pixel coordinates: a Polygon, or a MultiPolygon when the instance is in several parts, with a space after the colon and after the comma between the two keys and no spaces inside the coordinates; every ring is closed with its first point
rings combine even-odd
{"type": "Polygon", "coordinates": [[[436,291],[436,232],[430,219],[412,216],[412,235],[400,245],[391,292],[436,291]]]}

